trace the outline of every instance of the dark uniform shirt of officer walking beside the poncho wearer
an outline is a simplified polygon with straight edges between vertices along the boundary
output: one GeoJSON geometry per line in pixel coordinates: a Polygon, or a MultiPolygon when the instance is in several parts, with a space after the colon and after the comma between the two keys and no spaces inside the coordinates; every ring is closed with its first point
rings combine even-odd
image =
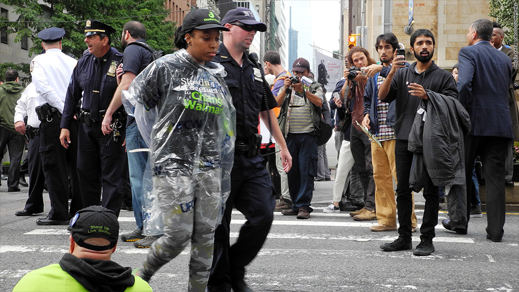
{"type": "Polygon", "coordinates": [[[218,47],[213,62],[222,64],[227,72],[224,79],[236,108],[236,141],[248,141],[258,132],[260,111],[267,110],[263,90],[266,92],[268,109],[277,107],[270,88],[263,82],[263,68],[257,68],[245,54],[240,67],[223,43],[218,47]]]}

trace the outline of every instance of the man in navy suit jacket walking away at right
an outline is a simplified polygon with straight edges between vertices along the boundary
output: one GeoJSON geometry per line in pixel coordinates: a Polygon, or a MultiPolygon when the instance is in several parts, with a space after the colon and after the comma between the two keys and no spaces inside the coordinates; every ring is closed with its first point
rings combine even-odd
{"type": "MultiPolygon", "coordinates": [[[[493,25],[476,20],[467,34],[468,47],[459,51],[459,101],[470,115],[465,142],[466,177],[470,181],[476,155],[480,155],[486,181],[487,239],[501,242],[504,225],[504,162],[507,143],[513,138],[509,112],[512,65],[490,44],[493,25]]],[[[472,191],[467,184],[467,193],[472,191]]],[[[470,204],[467,204],[470,214],[470,204]]],[[[467,221],[470,216],[467,216],[467,221]]]]}

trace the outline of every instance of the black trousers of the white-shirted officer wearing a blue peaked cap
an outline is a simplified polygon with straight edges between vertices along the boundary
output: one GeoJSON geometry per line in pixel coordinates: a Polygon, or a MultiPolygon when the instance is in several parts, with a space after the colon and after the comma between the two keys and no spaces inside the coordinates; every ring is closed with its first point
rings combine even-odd
{"type": "Polygon", "coordinates": [[[69,220],[83,208],[81,191],[77,177],[77,126],[72,120],[69,131],[69,149],[60,142],[61,118],[54,115],[50,122],[44,121],[39,125],[39,153],[42,158],[42,168],[50,197],[49,219],[69,220]],[[69,179],[72,185],[72,201],[69,212],[69,179]]]}

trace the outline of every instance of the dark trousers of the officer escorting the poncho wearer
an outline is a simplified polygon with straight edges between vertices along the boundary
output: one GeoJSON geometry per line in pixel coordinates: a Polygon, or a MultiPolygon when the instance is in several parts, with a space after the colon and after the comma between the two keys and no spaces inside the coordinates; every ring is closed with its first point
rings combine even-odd
{"type": "Polygon", "coordinates": [[[247,158],[236,153],[231,171],[231,191],[227,199],[222,224],[214,234],[214,256],[208,290],[230,292],[231,283],[243,280],[245,266],[257,255],[265,243],[274,219],[274,187],[270,175],[258,155],[247,158]],[[247,222],[242,225],[238,240],[229,243],[233,205],[247,222]]]}

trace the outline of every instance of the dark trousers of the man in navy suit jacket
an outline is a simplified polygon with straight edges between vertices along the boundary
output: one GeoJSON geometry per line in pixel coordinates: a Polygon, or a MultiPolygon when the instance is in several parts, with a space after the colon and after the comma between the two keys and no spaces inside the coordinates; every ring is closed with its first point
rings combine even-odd
{"type": "MultiPolygon", "coordinates": [[[[510,139],[503,137],[471,136],[465,139],[465,165],[467,181],[472,180],[472,166],[477,155],[483,165],[483,177],[486,187],[486,232],[493,240],[501,240],[505,217],[504,200],[504,164],[506,161],[507,145],[510,139]]],[[[471,202],[474,185],[467,183],[467,202],[471,202]]],[[[467,215],[470,214],[471,204],[467,204],[467,215]]],[[[470,216],[467,216],[467,221],[470,216]]]]}

